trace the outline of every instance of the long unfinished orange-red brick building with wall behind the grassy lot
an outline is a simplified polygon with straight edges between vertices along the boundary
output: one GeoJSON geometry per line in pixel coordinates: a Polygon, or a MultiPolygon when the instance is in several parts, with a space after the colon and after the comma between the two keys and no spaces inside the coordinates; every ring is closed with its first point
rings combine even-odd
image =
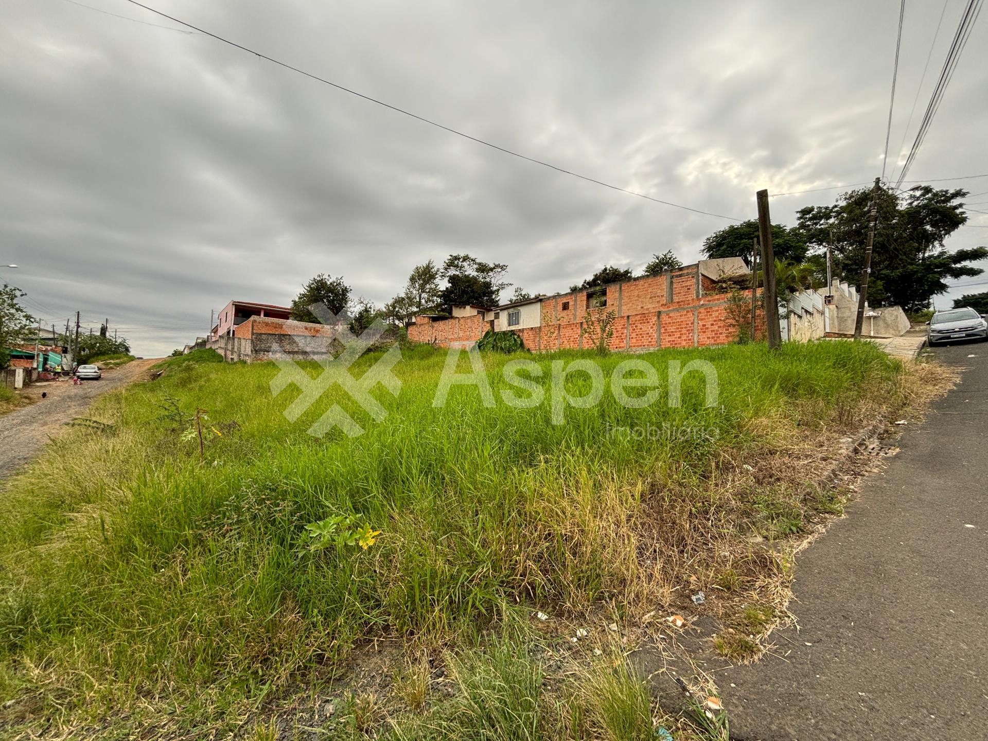
{"type": "MultiPolygon", "coordinates": [[[[729,294],[718,283],[749,273],[741,258],[701,260],[695,265],[660,276],[634,278],[609,286],[539,296],[526,302],[470,316],[417,316],[408,328],[414,342],[468,347],[488,329],[514,331],[534,352],[590,347],[592,320],[615,312],[612,350],[642,351],[656,348],[724,345],[734,339],[736,328],[727,320],[729,294]],[[531,309],[538,304],[541,321],[536,326],[512,329],[505,309],[531,309]]],[[[750,296],[750,290],[742,291],[750,296]]],[[[511,319],[514,321],[515,316],[511,319]]],[[[599,320],[599,319],[598,319],[599,320]]],[[[764,317],[760,319],[764,322],[764,317]]]]}

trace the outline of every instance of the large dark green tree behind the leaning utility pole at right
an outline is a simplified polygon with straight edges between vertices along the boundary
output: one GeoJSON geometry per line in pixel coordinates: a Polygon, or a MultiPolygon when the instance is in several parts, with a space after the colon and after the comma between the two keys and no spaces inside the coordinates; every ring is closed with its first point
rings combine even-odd
{"type": "MultiPolygon", "coordinates": [[[[968,263],[988,257],[988,249],[954,252],[944,240],[966,220],[963,190],[916,186],[902,196],[879,188],[878,225],[871,253],[868,301],[898,304],[907,313],[926,308],[949,288],[946,279],[978,276],[968,263]],[[960,202],[960,203],[957,203],[960,202]]],[[[812,249],[822,251],[833,235],[835,273],[858,283],[864,266],[871,189],[843,194],[834,206],[807,206],[797,211],[797,229],[812,249]]]]}

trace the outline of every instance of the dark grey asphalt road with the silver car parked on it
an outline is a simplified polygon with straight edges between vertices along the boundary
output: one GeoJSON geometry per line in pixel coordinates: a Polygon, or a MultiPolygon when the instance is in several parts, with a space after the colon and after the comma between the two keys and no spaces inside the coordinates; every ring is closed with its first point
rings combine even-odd
{"type": "Polygon", "coordinates": [[[968,370],[799,558],[799,630],[717,673],[732,738],[988,739],[988,344],[934,352],[968,370]]]}

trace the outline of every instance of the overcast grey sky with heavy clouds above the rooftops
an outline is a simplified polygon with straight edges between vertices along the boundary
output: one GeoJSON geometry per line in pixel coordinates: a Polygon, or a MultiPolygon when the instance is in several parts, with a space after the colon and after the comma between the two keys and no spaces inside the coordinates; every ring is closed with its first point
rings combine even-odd
{"type": "MultiPolygon", "coordinates": [[[[416,264],[468,252],[551,293],[667,249],[695,262],[731,223],[511,157],[124,0],[85,3],[3,4],[0,264],[20,268],[0,278],[48,324],[76,309],[86,326],[109,317],[138,355],[205,334],[231,298],[288,303],[317,273],[379,304],[416,264]]],[[[146,3],[471,135],[720,214],[754,217],[761,188],[881,171],[894,0],[146,3]]],[[[962,6],[947,0],[905,150],[962,6]]],[[[907,3],[889,175],[943,7],[907,3]]],[[[986,41],[981,19],[909,179],[988,173],[986,41]]],[[[988,177],[940,185],[982,193],[988,177]]],[[[774,198],[773,220],[839,193],[774,198]]],[[[988,229],[947,246],[979,244],[988,229]]]]}

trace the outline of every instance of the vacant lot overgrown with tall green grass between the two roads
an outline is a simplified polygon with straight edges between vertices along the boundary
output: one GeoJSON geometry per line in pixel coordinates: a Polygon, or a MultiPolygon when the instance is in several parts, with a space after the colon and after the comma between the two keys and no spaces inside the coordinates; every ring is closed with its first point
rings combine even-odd
{"type": "MultiPolygon", "coordinates": [[[[494,405],[454,385],[437,408],[446,353],[403,355],[397,397],[374,392],[387,410],[379,422],[337,386],[289,423],[298,389],[272,395],[274,364],[174,359],[159,379],[99,402],[91,416],[105,427],[70,432],[9,481],[0,704],[14,701],[0,723],[51,729],[147,715],[206,727],[196,723],[331,675],[368,638],[465,649],[533,610],[578,616],[607,605],[619,618],[674,606],[691,583],[757,593],[779,566],[753,552],[751,536],[798,533],[830,506],[778,461],[856,429],[903,393],[900,364],[868,344],[662,351],[635,356],[658,370],[653,403],[626,407],[609,390],[553,424],[553,361],[590,359],[609,377],[627,356],[485,354],[494,405]],[[528,395],[501,372],[522,357],[542,369],[534,381],[546,399],[533,408],[501,397],[528,395]],[[668,363],[694,359],[715,368],[716,402],[704,405],[704,376],[691,372],[670,407],[668,363]],[[367,432],[306,434],[334,403],[367,432]],[[662,432],[610,432],[636,426],[662,432]],[[324,537],[306,529],[313,523],[324,537]]],[[[362,358],[354,374],[379,357],[362,358]]],[[[459,371],[468,370],[463,354],[459,371]]],[[[586,373],[566,378],[573,395],[589,384],[586,373]]],[[[498,650],[490,655],[511,670],[511,650],[498,650]]],[[[496,669],[463,661],[466,685],[496,669]]],[[[532,682],[535,692],[525,676],[519,692],[532,682]]],[[[633,683],[616,687],[640,715],[633,683]]],[[[600,696],[580,707],[587,723],[612,712],[600,696]]],[[[579,730],[584,720],[570,737],[597,733],[579,730]]],[[[535,735],[518,737],[542,737],[532,722],[535,735]]],[[[433,732],[409,728],[405,737],[433,732]]]]}

